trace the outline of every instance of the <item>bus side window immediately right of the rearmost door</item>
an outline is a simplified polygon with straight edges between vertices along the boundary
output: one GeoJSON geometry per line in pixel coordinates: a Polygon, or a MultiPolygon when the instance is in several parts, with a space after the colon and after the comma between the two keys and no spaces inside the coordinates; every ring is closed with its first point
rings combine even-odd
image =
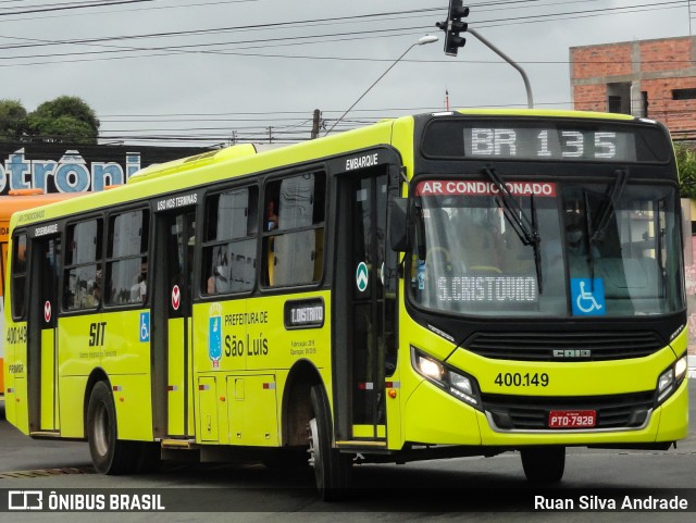
{"type": "Polygon", "coordinates": [[[67,311],[98,307],[101,301],[102,221],[67,227],[63,308],[67,311]]]}

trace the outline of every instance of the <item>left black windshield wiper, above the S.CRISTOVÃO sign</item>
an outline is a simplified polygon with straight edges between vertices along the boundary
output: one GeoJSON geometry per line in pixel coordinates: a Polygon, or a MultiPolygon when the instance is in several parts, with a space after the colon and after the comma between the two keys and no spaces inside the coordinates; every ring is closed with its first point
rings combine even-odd
{"type": "Polygon", "coordinates": [[[534,248],[536,281],[538,284],[539,294],[542,294],[542,250],[539,247],[542,238],[539,236],[538,223],[536,217],[534,195],[530,196],[530,210],[532,212],[532,220],[530,220],[514,199],[514,196],[512,196],[502,179],[500,179],[498,173],[496,173],[495,167],[487,165],[483,169],[483,173],[488,176],[488,178],[490,178],[490,182],[493,182],[497,187],[498,195],[496,196],[496,198],[498,199],[498,202],[502,208],[502,212],[506,219],[512,226],[512,229],[520,237],[520,241],[522,241],[522,245],[531,245],[534,248]]]}

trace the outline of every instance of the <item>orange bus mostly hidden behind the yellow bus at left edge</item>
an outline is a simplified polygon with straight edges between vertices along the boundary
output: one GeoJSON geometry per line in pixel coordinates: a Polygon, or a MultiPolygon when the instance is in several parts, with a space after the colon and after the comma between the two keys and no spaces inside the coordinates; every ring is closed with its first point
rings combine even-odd
{"type": "MultiPolygon", "coordinates": [[[[46,206],[52,201],[60,201],[75,196],[74,194],[54,192],[44,194],[41,189],[12,189],[7,196],[0,196],[0,333],[4,333],[4,266],[8,260],[8,234],[10,232],[10,216],[13,212],[46,206]]],[[[0,336],[0,399],[4,397],[4,337],[0,336]]]]}

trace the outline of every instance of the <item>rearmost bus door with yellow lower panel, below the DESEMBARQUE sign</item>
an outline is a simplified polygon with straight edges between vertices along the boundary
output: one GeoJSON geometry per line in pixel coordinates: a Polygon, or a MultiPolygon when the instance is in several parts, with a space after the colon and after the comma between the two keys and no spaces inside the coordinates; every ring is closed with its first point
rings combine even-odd
{"type": "Polygon", "coordinates": [[[29,431],[60,428],[58,412],[58,312],[61,272],[60,236],[32,240],[32,271],[38,279],[29,285],[27,325],[27,369],[29,387],[29,431]]]}

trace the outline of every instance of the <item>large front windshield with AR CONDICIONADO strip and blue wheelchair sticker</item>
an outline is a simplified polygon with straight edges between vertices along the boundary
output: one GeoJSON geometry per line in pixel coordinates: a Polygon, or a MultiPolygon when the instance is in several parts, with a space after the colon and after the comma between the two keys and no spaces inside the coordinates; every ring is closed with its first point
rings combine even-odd
{"type": "Polygon", "coordinates": [[[506,188],[507,202],[493,179],[418,183],[410,273],[418,306],[509,316],[684,308],[672,186],[632,183],[620,171],[608,182],[507,180],[506,188]]]}

